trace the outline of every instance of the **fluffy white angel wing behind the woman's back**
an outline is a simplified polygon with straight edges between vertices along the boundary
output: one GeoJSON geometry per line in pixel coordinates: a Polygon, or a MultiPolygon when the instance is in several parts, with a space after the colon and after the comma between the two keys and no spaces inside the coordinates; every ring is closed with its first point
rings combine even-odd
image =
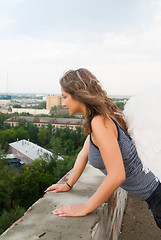
{"type": "Polygon", "coordinates": [[[161,181],[161,85],[130,98],[124,115],[144,169],[161,181]]]}

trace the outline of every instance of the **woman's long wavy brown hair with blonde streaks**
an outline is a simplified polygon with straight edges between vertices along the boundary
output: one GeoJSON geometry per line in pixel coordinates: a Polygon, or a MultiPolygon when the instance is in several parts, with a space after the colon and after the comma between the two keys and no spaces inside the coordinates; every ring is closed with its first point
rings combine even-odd
{"type": "Polygon", "coordinates": [[[126,128],[121,110],[107,96],[100,82],[89,70],[80,68],[67,71],[60,79],[60,85],[74,99],[86,105],[84,121],[86,135],[91,133],[91,121],[96,115],[101,115],[103,118],[114,117],[122,127],[126,128]]]}

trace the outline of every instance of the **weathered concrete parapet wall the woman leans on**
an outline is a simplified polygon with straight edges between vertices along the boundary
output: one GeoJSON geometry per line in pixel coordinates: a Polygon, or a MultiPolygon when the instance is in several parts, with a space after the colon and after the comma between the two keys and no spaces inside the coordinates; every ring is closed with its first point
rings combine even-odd
{"type": "MultiPolygon", "coordinates": [[[[69,174],[70,172],[65,178],[69,174]]],[[[24,217],[3,233],[0,239],[116,240],[127,199],[126,191],[121,188],[88,216],[62,218],[52,214],[52,210],[60,206],[85,203],[103,179],[104,175],[88,164],[70,192],[47,193],[27,210],[24,217]]]]}

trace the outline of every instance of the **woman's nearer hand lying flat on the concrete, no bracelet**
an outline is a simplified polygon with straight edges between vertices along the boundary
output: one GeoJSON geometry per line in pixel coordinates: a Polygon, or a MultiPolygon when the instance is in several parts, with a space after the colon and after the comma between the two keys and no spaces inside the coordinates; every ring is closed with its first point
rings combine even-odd
{"type": "Polygon", "coordinates": [[[59,217],[81,217],[88,214],[85,205],[64,206],[52,211],[52,213],[59,217]]]}

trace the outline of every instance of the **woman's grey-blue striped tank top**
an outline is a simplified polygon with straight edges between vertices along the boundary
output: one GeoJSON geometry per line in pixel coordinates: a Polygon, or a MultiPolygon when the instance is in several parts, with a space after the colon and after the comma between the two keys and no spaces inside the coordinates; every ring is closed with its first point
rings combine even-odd
{"type": "MultiPolygon", "coordinates": [[[[112,121],[117,127],[118,144],[122,153],[126,172],[126,180],[121,184],[121,187],[141,200],[146,200],[157,188],[159,181],[152,172],[144,171],[134,141],[114,119],[112,119],[112,121]]],[[[88,160],[93,167],[100,169],[105,175],[107,175],[107,170],[103,163],[99,148],[94,145],[91,136],[88,160]]]]}

